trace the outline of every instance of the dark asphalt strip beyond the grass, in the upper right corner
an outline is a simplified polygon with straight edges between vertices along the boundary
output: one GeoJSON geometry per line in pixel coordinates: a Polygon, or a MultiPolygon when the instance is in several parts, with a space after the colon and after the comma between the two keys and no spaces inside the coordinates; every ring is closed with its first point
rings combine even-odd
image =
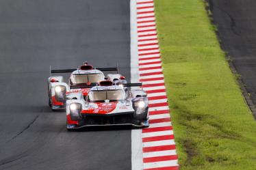
{"type": "Polygon", "coordinates": [[[256,1],[209,0],[222,46],[256,104],[256,1]]]}

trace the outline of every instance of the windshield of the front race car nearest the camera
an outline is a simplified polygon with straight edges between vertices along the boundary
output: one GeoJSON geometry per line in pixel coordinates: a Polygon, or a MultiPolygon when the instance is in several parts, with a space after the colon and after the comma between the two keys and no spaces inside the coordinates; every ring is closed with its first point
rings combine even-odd
{"type": "Polygon", "coordinates": [[[110,100],[110,102],[125,100],[125,91],[118,90],[106,90],[106,91],[90,91],[90,102],[103,102],[110,100]]]}

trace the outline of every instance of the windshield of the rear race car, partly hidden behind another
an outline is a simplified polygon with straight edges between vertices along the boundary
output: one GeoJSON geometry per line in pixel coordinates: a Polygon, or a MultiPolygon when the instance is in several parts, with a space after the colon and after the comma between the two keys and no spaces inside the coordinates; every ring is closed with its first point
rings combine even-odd
{"type": "Polygon", "coordinates": [[[82,84],[88,82],[90,83],[99,83],[103,80],[102,74],[73,74],[71,76],[71,82],[73,84],[82,84]]]}

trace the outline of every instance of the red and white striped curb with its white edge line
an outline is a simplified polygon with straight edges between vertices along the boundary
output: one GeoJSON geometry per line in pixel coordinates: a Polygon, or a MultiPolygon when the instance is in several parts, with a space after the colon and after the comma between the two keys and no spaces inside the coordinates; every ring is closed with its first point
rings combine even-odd
{"type": "Polygon", "coordinates": [[[131,75],[138,75],[132,75],[131,81],[142,82],[148,94],[150,124],[149,128],[133,130],[131,134],[132,169],[177,170],[153,0],[131,0],[131,13],[131,75]]]}

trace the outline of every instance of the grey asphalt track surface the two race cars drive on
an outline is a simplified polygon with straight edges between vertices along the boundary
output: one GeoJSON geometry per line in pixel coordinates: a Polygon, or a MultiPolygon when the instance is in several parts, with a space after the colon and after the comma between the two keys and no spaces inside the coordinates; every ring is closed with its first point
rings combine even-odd
{"type": "Polygon", "coordinates": [[[131,169],[131,130],[67,132],[52,68],[87,60],[130,79],[129,0],[0,1],[0,169],[131,169]]]}

